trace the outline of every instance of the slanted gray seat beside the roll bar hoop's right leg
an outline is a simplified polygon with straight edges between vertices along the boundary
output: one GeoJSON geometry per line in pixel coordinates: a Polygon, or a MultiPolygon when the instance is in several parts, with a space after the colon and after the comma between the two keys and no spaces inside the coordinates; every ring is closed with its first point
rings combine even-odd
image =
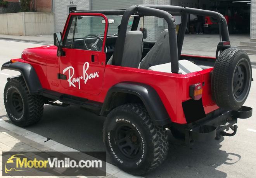
{"type": "Polygon", "coordinates": [[[148,69],[151,66],[170,63],[170,44],[168,29],[165,29],[140,63],[140,69],[148,69]]]}

